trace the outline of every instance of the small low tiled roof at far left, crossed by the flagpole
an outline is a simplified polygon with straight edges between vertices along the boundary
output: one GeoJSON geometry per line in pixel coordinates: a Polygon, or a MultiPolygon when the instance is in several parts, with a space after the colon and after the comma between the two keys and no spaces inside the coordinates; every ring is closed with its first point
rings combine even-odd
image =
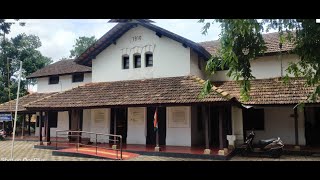
{"type": "MultiPolygon", "coordinates": [[[[19,98],[19,104],[18,104],[18,111],[23,112],[27,111],[23,106],[25,104],[28,104],[30,102],[39,100],[41,98],[44,98],[46,96],[50,96],[55,93],[33,93],[33,94],[28,94],[23,97],[19,98]]],[[[9,102],[0,104],[0,113],[6,113],[6,112],[14,112],[16,108],[16,100],[11,100],[9,102]]]]}

